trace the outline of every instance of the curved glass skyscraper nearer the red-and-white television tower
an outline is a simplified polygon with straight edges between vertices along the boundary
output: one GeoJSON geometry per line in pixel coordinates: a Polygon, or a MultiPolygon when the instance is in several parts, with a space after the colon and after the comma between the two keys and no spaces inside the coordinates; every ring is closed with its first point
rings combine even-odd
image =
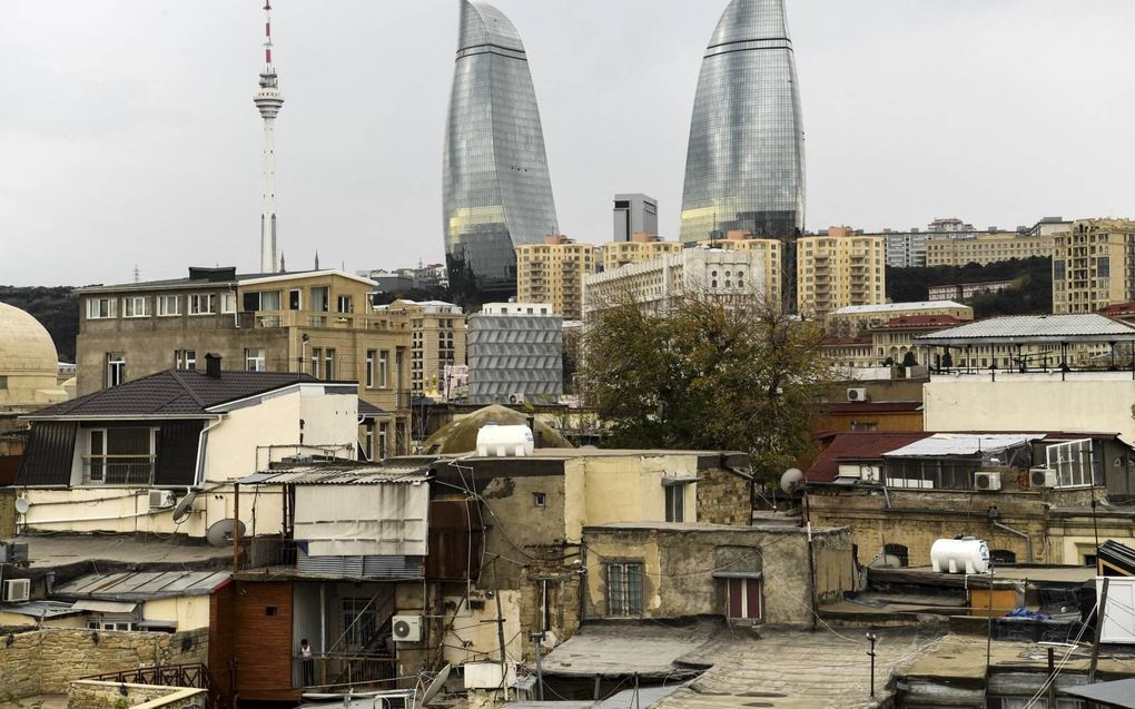
{"type": "Polygon", "coordinates": [[[524,44],[501,10],[479,0],[461,2],[444,182],[451,284],[514,293],[515,247],[560,228],[524,44]]]}

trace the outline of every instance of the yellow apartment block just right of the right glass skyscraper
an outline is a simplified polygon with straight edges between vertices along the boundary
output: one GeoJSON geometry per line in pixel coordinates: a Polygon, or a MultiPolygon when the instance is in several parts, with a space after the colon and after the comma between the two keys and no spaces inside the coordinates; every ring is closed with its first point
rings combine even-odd
{"type": "Polygon", "coordinates": [[[886,243],[877,236],[832,227],[797,243],[797,310],[823,318],[848,305],[886,301],[886,243]]]}

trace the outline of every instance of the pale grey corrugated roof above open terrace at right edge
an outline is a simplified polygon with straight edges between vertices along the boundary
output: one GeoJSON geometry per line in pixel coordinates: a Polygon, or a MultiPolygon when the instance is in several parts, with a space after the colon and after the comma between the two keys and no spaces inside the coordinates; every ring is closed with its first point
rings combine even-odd
{"type": "Polygon", "coordinates": [[[1135,328],[1095,313],[1078,315],[1008,315],[969,322],[914,338],[919,345],[982,341],[1135,340],[1135,328]]]}

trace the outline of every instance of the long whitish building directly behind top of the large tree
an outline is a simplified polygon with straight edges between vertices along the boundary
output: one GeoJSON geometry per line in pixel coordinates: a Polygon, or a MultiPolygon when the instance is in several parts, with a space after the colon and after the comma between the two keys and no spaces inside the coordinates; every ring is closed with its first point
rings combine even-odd
{"type": "Polygon", "coordinates": [[[585,281],[585,318],[623,298],[663,312],[683,294],[725,302],[763,299],[768,293],[765,254],[693,247],[649,261],[592,273],[585,281]]]}

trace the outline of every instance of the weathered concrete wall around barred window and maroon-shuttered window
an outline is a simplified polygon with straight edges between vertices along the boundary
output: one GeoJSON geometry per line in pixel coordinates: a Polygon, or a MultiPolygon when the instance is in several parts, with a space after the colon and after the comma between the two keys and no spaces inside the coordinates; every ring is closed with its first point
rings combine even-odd
{"type": "MultiPolygon", "coordinates": [[[[659,525],[587,527],[588,618],[607,615],[607,563],[644,565],[642,615],[684,618],[725,615],[724,582],[715,571],[763,574],[764,622],[805,624],[808,600],[808,537],[799,527],[724,527],[659,525]]],[[[856,589],[851,535],[847,530],[813,534],[813,559],[819,600],[856,589]]]]}

